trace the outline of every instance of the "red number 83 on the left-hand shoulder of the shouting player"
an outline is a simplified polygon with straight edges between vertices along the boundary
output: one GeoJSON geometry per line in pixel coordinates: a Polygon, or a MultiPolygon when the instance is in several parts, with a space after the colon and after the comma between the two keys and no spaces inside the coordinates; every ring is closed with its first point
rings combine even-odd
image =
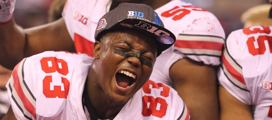
{"type": "MultiPolygon", "coordinates": [[[[42,70],[45,73],[54,73],[57,71],[58,73],[64,76],[66,76],[69,73],[67,62],[64,61],[63,59],[57,59],[56,57],[48,57],[48,58],[42,58],[40,62],[41,62],[42,70]]],[[[56,97],[67,98],[69,88],[70,88],[70,82],[66,78],[61,77],[61,82],[64,85],[64,91],[61,91],[61,86],[56,86],[56,85],[54,85],[54,90],[50,90],[50,82],[52,82],[51,75],[45,76],[45,78],[42,81],[43,94],[45,95],[46,98],[56,98],[56,97]]]]}

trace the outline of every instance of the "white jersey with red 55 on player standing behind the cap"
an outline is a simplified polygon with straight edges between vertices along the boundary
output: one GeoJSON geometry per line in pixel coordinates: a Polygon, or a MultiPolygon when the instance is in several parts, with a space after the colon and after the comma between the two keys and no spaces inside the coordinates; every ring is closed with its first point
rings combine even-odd
{"type": "MultiPolygon", "coordinates": [[[[94,32],[99,19],[107,13],[109,6],[110,0],[66,2],[63,18],[78,53],[93,56],[94,32]]],[[[164,27],[171,31],[177,40],[175,46],[162,52],[157,58],[151,80],[158,80],[172,87],[169,68],[184,57],[204,64],[220,64],[225,33],[212,13],[180,0],[172,0],[155,11],[164,27]]]]}

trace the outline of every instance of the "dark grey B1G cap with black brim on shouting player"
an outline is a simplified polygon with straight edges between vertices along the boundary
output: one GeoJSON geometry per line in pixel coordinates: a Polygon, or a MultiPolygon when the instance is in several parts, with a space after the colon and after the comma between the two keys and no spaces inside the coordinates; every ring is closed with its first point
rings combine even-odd
{"type": "Polygon", "coordinates": [[[164,28],[161,19],[150,6],[135,3],[121,3],[118,7],[106,13],[99,20],[94,38],[98,41],[100,34],[105,30],[124,27],[145,32],[156,38],[157,56],[176,41],[175,35],[164,28]]]}

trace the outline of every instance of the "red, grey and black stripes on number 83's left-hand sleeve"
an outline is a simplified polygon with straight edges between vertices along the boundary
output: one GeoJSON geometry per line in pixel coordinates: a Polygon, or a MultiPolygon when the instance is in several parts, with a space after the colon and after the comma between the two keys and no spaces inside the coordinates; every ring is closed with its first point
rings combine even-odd
{"type": "Polygon", "coordinates": [[[29,87],[24,80],[23,66],[25,61],[26,58],[14,67],[9,82],[9,88],[12,99],[22,111],[23,115],[27,119],[36,119],[36,98],[29,90],[29,87]]]}

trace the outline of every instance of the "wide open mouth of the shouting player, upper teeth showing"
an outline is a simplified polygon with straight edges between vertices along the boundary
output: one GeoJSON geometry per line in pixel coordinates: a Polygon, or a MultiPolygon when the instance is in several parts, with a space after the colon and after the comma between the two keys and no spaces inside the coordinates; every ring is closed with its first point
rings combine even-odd
{"type": "Polygon", "coordinates": [[[120,70],[116,73],[115,78],[117,85],[122,88],[127,88],[136,82],[136,75],[126,70],[120,70]]]}

